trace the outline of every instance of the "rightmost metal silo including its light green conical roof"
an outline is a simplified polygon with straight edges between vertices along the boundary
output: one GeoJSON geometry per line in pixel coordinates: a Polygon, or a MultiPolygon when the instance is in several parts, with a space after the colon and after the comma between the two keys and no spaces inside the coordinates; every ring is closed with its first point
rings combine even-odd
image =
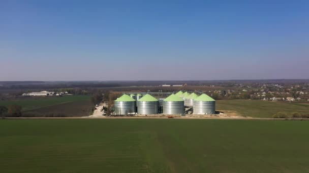
{"type": "Polygon", "coordinates": [[[193,101],[194,114],[215,114],[215,100],[206,94],[202,94],[193,101]]]}

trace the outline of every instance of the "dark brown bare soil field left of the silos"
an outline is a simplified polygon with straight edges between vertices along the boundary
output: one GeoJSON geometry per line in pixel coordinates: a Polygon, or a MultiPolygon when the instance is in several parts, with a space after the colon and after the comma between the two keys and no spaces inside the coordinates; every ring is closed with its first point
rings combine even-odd
{"type": "Polygon", "coordinates": [[[59,105],[42,107],[39,109],[27,111],[25,113],[40,114],[40,115],[65,115],[65,116],[85,116],[89,115],[92,109],[90,101],[76,101],[59,105]]]}

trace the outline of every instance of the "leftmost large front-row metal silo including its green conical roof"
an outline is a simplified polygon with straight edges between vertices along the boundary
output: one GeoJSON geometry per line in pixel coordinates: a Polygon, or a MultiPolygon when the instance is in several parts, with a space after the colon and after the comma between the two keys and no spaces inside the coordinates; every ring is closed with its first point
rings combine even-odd
{"type": "Polygon", "coordinates": [[[135,114],[136,101],[130,96],[124,94],[115,100],[115,114],[116,115],[128,115],[135,114]]]}

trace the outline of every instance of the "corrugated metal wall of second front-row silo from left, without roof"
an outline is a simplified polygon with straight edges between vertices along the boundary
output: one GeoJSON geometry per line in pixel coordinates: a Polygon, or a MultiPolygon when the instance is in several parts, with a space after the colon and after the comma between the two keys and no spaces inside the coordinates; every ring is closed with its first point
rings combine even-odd
{"type": "Polygon", "coordinates": [[[139,102],[137,101],[137,113],[138,114],[158,114],[159,113],[159,101],[156,102],[139,102]]]}

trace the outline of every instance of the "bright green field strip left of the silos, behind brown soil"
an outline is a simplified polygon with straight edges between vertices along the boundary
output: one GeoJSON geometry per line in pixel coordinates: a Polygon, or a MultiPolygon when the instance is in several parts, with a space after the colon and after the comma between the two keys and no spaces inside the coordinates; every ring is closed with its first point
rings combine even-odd
{"type": "Polygon", "coordinates": [[[21,105],[23,111],[39,109],[43,107],[71,103],[76,101],[89,101],[90,96],[73,95],[64,97],[28,97],[17,100],[0,101],[1,106],[21,105]]]}

